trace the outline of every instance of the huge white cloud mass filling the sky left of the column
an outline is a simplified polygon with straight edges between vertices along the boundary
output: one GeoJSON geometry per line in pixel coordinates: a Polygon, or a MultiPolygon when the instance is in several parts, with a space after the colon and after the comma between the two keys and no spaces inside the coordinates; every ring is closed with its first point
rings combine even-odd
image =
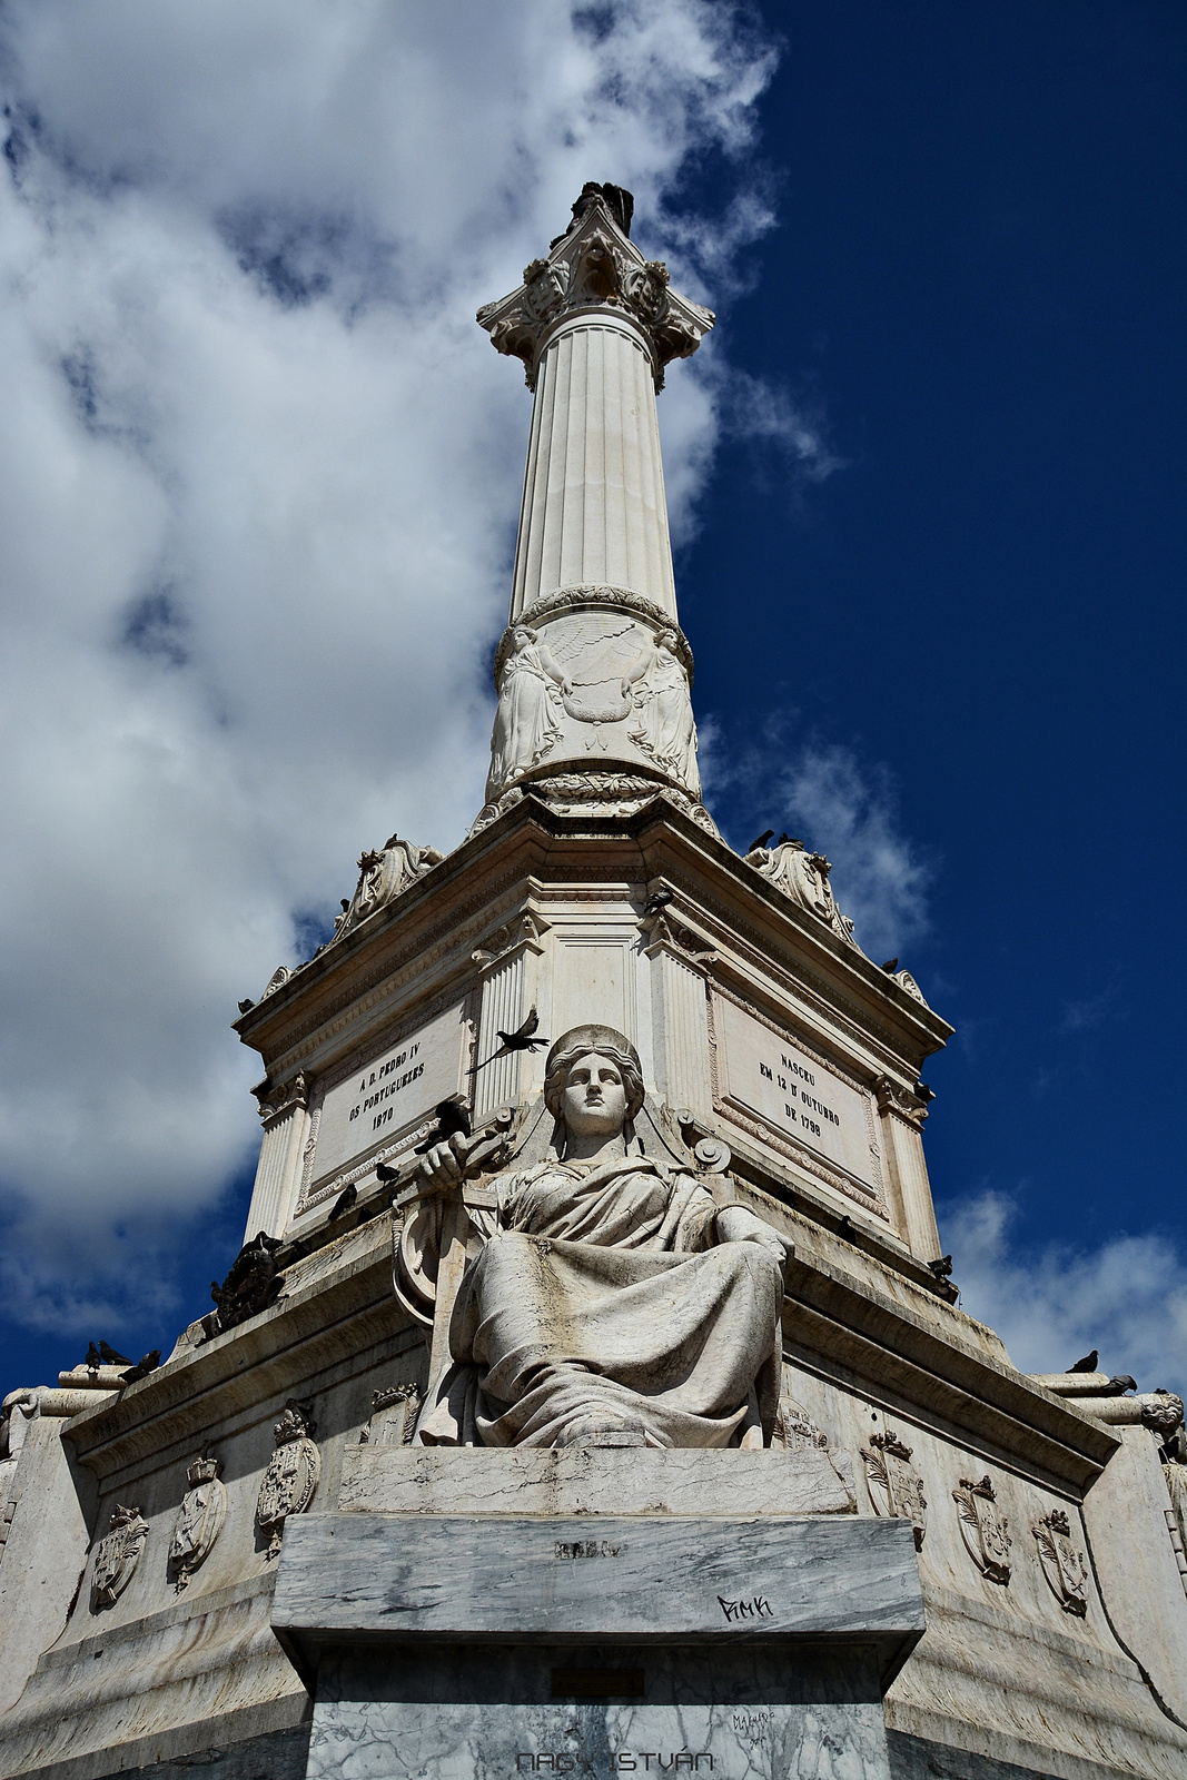
{"type": "MultiPolygon", "coordinates": [[[[731,288],[772,64],[708,0],[14,0],[4,30],[0,1178],[7,1303],[46,1324],[249,1155],[228,1018],[297,917],[480,805],[529,400],[475,308],[585,178],[731,288]],[[682,217],[712,148],[737,196],[682,217]]],[[[719,402],[669,384],[687,529],[719,402]]]]}

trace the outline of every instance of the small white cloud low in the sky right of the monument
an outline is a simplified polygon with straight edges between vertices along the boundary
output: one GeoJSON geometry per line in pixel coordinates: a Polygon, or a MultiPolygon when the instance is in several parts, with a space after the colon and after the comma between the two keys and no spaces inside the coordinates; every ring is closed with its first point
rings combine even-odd
{"type": "Polygon", "coordinates": [[[981,1193],[938,1209],[961,1308],[997,1330],[1023,1372],[1062,1372],[1093,1347],[1139,1390],[1187,1394],[1187,1260],[1162,1235],[1100,1248],[1014,1237],[1018,1205],[981,1193]]]}

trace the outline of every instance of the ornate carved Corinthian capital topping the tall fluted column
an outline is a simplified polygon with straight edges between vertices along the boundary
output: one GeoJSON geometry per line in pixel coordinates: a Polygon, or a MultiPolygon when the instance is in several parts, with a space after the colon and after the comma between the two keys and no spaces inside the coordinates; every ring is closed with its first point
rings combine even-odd
{"type": "Polygon", "coordinates": [[[607,198],[585,190],[591,196],[575,206],[571,228],[548,258],[532,260],[518,290],[480,308],[479,324],[498,352],[523,360],[529,388],[536,388],[541,347],[557,324],[580,310],[614,310],[642,333],[662,388],[664,365],[696,352],[714,313],[678,295],[664,262],[644,260],[607,198]]]}

